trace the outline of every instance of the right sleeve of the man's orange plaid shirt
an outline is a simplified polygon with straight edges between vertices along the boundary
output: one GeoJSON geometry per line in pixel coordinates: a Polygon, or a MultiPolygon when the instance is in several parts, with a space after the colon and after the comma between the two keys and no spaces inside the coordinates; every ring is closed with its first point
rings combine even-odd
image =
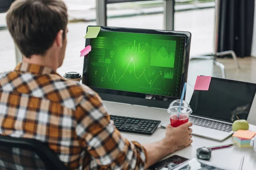
{"type": "Polygon", "coordinates": [[[144,169],[147,160],[145,148],[121,136],[97,94],[87,94],[77,112],[80,118],[76,133],[85,140],[88,152],[99,166],[114,170],[144,169]]]}

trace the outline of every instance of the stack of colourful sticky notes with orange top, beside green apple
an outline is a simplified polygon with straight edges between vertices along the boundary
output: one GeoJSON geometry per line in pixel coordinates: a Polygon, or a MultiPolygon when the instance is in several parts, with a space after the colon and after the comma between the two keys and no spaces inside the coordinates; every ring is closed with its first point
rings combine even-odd
{"type": "Polygon", "coordinates": [[[250,147],[250,140],[255,135],[256,132],[250,130],[238,130],[233,134],[233,140],[239,147],[250,147]]]}

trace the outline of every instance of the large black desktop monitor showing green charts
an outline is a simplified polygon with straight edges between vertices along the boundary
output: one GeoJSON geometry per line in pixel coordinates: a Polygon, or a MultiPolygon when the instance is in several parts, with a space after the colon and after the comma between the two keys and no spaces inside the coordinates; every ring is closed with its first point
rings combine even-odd
{"type": "Polygon", "coordinates": [[[101,27],[86,39],[82,82],[103,100],[168,108],[187,80],[190,40],[183,31],[101,27]]]}

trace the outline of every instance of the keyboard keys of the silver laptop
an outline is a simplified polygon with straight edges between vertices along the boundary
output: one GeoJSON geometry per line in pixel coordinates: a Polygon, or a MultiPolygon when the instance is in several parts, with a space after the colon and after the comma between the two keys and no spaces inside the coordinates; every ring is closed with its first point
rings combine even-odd
{"type": "Polygon", "coordinates": [[[192,117],[192,116],[189,116],[189,121],[192,122],[194,125],[198,125],[202,127],[207,127],[215,130],[224,131],[224,132],[232,131],[232,125],[227,123],[221,123],[221,122],[216,122],[212,120],[201,119],[198,117],[192,117]]]}

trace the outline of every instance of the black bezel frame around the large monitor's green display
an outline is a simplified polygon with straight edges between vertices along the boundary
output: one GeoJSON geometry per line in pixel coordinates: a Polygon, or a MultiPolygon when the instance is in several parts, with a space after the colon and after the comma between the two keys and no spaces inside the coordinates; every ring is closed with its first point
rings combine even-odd
{"type": "MultiPolygon", "coordinates": [[[[93,26],[88,26],[88,27],[93,27],[93,26]]],[[[87,27],[87,30],[88,30],[88,27],[87,27]]],[[[108,27],[108,26],[101,26],[100,31],[184,36],[186,40],[185,40],[185,47],[184,47],[183,75],[182,75],[181,86],[180,86],[180,93],[181,93],[183,85],[185,82],[187,82],[187,77],[188,77],[189,53],[190,53],[190,42],[191,42],[190,32],[153,30],[153,29],[141,29],[141,28],[120,28],[120,27],[108,27]]],[[[87,45],[90,45],[90,39],[85,40],[85,47],[87,45]]],[[[87,64],[88,64],[87,57],[88,57],[88,54],[84,56],[84,63],[86,64],[84,64],[83,66],[83,79],[82,79],[83,84],[85,84],[84,77],[85,77],[85,74],[87,74],[87,64]]],[[[161,96],[161,95],[154,95],[156,96],[154,99],[139,98],[134,96],[121,96],[121,95],[115,95],[115,94],[102,93],[98,88],[94,88],[94,87],[90,87],[90,88],[96,91],[99,94],[99,96],[101,96],[101,98],[105,101],[126,103],[131,105],[141,105],[141,106],[148,106],[148,107],[154,107],[154,108],[167,109],[169,107],[170,102],[172,102],[175,99],[180,99],[180,97],[169,97],[167,101],[164,101],[164,96],[161,96]]],[[[117,91],[117,90],[113,90],[113,91],[117,91]]],[[[140,93],[134,92],[134,94],[139,95],[140,93]]]]}

